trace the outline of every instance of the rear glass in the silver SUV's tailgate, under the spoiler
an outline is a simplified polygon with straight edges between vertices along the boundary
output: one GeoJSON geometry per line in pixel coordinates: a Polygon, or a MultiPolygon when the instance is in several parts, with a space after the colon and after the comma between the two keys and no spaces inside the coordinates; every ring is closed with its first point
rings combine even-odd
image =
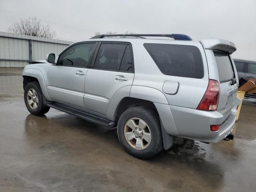
{"type": "Polygon", "coordinates": [[[234,71],[228,53],[222,51],[213,51],[217,63],[220,82],[228,81],[234,78],[234,71]]]}

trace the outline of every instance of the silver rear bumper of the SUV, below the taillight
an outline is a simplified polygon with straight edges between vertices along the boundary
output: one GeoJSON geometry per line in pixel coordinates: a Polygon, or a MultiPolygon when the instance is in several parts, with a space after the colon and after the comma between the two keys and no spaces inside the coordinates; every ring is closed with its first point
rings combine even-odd
{"type": "Polygon", "coordinates": [[[168,134],[202,142],[220,142],[232,132],[236,120],[235,106],[227,119],[217,111],[208,112],[165,104],[156,104],[156,108],[168,134]],[[218,124],[221,125],[219,131],[212,132],[210,125],[218,124]]]}

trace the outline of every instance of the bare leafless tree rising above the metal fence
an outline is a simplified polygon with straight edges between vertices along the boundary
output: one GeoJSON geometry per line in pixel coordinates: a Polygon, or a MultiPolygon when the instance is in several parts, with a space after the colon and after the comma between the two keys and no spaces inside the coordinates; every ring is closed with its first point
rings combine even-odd
{"type": "Polygon", "coordinates": [[[26,20],[20,20],[12,24],[8,31],[16,34],[31,35],[36,37],[54,38],[56,36],[55,30],[47,25],[41,24],[41,20],[36,17],[30,17],[26,20]]]}

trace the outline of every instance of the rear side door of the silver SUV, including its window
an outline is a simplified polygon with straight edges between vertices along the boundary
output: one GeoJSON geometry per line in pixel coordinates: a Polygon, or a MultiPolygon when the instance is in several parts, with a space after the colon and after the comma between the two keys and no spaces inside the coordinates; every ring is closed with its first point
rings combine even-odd
{"type": "Polygon", "coordinates": [[[86,109],[106,116],[110,100],[134,78],[132,47],[127,43],[102,42],[94,56],[94,67],[86,74],[84,104],[86,109]]]}

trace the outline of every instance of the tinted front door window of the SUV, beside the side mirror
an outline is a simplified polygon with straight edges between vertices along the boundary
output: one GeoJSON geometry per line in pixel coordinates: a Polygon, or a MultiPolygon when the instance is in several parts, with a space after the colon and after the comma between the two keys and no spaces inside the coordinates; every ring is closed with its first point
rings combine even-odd
{"type": "Polygon", "coordinates": [[[85,43],[70,47],[60,55],[57,65],[88,67],[94,46],[95,43],[85,43]]]}

